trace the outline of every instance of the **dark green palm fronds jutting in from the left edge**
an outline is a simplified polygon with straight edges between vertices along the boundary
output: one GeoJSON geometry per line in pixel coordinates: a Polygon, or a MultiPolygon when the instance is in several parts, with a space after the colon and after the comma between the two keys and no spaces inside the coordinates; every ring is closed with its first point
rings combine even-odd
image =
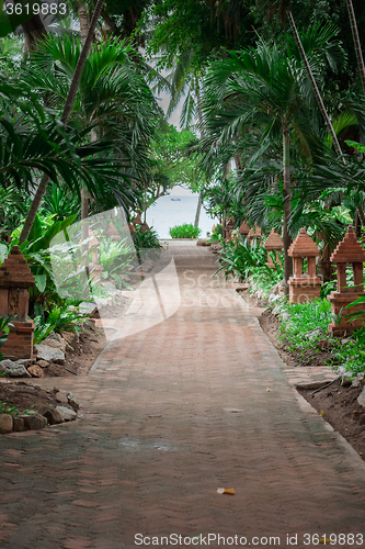
{"type": "Polygon", "coordinates": [[[80,181],[92,194],[101,177],[113,179],[110,161],[95,160],[92,155],[110,155],[110,144],[104,139],[90,146],[84,144],[85,132],[65,131],[54,116],[44,112],[37,96],[24,82],[14,81],[0,74],[0,186],[31,193],[39,173],[59,184],[65,181],[71,192],[77,192],[80,181]]]}

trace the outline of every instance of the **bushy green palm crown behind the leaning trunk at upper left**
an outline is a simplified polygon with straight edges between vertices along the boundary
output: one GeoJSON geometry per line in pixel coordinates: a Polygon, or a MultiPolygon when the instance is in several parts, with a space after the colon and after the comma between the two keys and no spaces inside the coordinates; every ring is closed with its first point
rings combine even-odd
{"type": "MultiPolygon", "coordinates": [[[[24,79],[42,93],[47,107],[58,110],[64,103],[80,49],[80,42],[68,36],[49,38],[26,67],[24,79]]],[[[113,138],[130,169],[148,167],[149,142],[160,119],[132,54],[130,45],[115,40],[93,47],[69,120],[79,132],[94,127],[96,138],[113,138]]]]}

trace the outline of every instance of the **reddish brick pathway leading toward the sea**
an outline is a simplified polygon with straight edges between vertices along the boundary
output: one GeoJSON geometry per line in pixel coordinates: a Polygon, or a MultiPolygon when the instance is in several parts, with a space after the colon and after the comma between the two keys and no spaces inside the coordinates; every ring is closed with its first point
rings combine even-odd
{"type": "MultiPolygon", "coordinates": [[[[0,438],[0,547],[118,549],[137,547],[138,533],[210,533],[256,547],[270,540],[252,536],[280,536],[284,548],[286,534],[297,547],[313,547],[305,533],[365,535],[363,461],[296,396],[235,291],[203,288],[215,257],[193,245],[173,254],[178,312],[115,340],[88,378],[57,380],[84,417],[0,438]]],[[[362,547],[347,541],[330,547],[362,547]]]]}

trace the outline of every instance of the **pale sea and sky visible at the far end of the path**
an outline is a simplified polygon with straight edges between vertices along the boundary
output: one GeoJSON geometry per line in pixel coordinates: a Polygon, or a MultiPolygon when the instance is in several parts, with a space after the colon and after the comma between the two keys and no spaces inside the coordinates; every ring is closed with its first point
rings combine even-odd
{"type": "MultiPolygon", "coordinates": [[[[174,188],[173,192],[167,197],[158,199],[155,205],[147,210],[147,224],[158,232],[160,238],[170,238],[169,228],[174,225],[183,225],[184,223],[193,223],[195,220],[197,194],[178,194],[179,188],[174,188]],[[171,199],[180,199],[171,200],[171,199]]],[[[185,191],[186,192],[186,191],[185,191]]],[[[216,225],[218,220],[209,217],[202,206],[199,217],[201,236],[205,237],[207,232],[212,232],[213,225],[216,225]]]]}

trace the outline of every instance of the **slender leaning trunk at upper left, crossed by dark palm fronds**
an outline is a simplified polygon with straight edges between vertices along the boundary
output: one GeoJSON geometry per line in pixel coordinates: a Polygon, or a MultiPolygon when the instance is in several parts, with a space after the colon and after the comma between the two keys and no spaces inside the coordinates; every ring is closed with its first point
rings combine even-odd
{"type": "MultiPolygon", "coordinates": [[[[90,48],[91,48],[92,37],[93,37],[93,34],[94,34],[94,30],[95,30],[95,26],[96,26],[96,23],[98,23],[98,19],[99,19],[100,12],[101,12],[101,10],[103,8],[103,3],[104,3],[104,0],[98,0],[98,2],[96,2],[95,11],[94,11],[94,14],[93,14],[91,23],[90,23],[88,36],[87,36],[87,40],[85,40],[85,42],[83,44],[83,48],[81,51],[79,60],[77,63],[77,66],[76,66],[75,72],[73,72],[73,77],[72,77],[72,81],[71,81],[71,85],[70,85],[70,89],[68,91],[68,94],[67,94],[67,98],[66,98],[66,102],[65,102],[65,107],[64,107],[64,111],[62,111],[62,114],[61,114],[61,121],[64,122],[65,126],[67,126],[68,119],[69,119],[69,116],[71,114],[71,110],[72,110],[72,107],[73,107],[75,98],[76,98],[76,94],[77,94],[77,91],[78,91],[78,88],[79,88],[79,83],[80,83],[80,79],[81,79],[82,69],[83,69],[84,63],[87,60],[88,54],[89,54],[90,48]]],[[[42,199],[44,197],[44,193],[47,190],[48,181],[49,181],[49,177],[46,173],[44,173],[44,176],[42,178],[42,181],[41,181],[41,184],[38,186],[38,189],[37,189],[37,191],[35,193],[34,199],[33,199],[33,202],[32,202],[31,209],[28,211],[28,214],[26,216],[26,220],[25,220],[25,223],[24,223],[24,226],[23,226],[23,231],[22,231],[22,233],[20,235],[20,243],[25,242],[27,239],[28,235],[30,235],[30,232],[31,232],[31,228],[33,226],[36,213],[37,213],[37,211],[39,209],[42,199]]]]}

